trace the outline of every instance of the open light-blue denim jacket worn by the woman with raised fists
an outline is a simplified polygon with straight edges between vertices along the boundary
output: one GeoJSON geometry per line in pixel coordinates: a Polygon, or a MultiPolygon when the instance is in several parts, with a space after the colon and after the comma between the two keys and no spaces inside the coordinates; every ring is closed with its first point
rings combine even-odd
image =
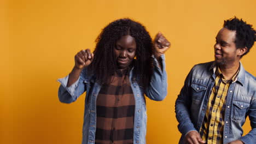
{"type": "MultiPolygon", "coordinates": [[[[132,78],[133,69],[130,71],[130,82],[133,95],[135,97],[135,119],[133,143],[146,143],[147,111],[144,93],[149,99],[160,101],[167,94],[167,77],[165,71],[165,57],[162,58],[162,70],[158,67],[158,61],[154,58],[153,74],[149,87],[144,91],[135,78],[132,78]]],[[[87,75],[86,68],[80,74],[79,79],[73,85],[67,86],[68,76],[59,79],[59,99],[62,103],[72,103],[86,91],[84,124],[83,124],[83,144],[95,143],[96,132],[96,99],[101,85],[95,82],[93,76],[87,75]]],[[[139,78],[139,77],[138,77],[139,78]]]]}

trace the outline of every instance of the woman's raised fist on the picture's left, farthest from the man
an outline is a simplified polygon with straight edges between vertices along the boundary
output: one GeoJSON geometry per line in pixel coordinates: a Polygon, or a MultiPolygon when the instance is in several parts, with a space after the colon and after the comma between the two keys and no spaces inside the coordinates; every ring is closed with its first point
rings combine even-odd
{"type": "Polygon", "coordinates": [[[75,68],[83,69],[91,64],[94,59],[94,53],[91,53],[90,49],[82,50],[75,55],[75,68]]]}

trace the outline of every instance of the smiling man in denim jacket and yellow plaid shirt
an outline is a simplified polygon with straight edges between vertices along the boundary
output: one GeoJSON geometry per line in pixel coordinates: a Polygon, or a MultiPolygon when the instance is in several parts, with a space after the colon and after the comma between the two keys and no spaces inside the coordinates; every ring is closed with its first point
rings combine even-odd
{"type": "Polygon", "coordinates": [[[255,143],[256,79],[240,59],[256,39],[252,25],[224,21],[214,45],[214,62],[195,65],[176,100],[179,143],[255,143]],[[243,135],[249,116],[252,130],[243,135]]]}

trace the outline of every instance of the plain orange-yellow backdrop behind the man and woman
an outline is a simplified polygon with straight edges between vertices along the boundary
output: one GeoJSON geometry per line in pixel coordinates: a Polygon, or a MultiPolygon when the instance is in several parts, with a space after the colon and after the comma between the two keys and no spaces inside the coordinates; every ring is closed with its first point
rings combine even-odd
{"type": "MultiPolygon", "coordinates": [[[[256,28],[256,1],[0,1],[0,143],[81,143],[84,95],[75,103],[57,98],[57,78],[67,75],[74,55],[95,47],[101,29],[130,17],[171,43],[166,52],[168,95],[147,99],[147,143],[177,143],[174,101],[194,64],[213,60],[223,21],[242,17],[256,28]]],[[[256,75],[255,50],[242,58],[256,75]],[[254,58],[253,58],[254,57],[254,58]]],[[[251,127],[247,122],[245,133],[251,127]]]]}

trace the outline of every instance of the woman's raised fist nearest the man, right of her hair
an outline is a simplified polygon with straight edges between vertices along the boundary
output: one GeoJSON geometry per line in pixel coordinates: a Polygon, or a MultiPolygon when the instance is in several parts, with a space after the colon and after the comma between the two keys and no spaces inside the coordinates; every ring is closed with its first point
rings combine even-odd
{"type": "Polygon", "coordinates": [[[162,33],[158,33],[155,36],[154,44],[153,44],[153,52],[156,59],[166,52],[166,50],[170,47],[170,42],[162,35],[162,33]]]}

